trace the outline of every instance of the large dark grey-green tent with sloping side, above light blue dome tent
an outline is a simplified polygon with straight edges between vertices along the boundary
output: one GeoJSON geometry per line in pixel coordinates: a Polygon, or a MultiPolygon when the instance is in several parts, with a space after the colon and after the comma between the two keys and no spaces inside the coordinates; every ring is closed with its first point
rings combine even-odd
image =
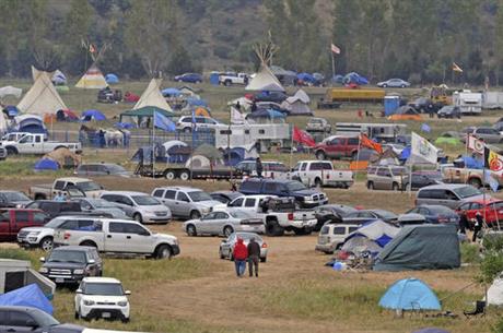
{"type": "Polygon", "coordinates": [[[459,267],[459,239],[453,225],[406,226],[386,245],[374,271],[448,270],[459,267]]]}

